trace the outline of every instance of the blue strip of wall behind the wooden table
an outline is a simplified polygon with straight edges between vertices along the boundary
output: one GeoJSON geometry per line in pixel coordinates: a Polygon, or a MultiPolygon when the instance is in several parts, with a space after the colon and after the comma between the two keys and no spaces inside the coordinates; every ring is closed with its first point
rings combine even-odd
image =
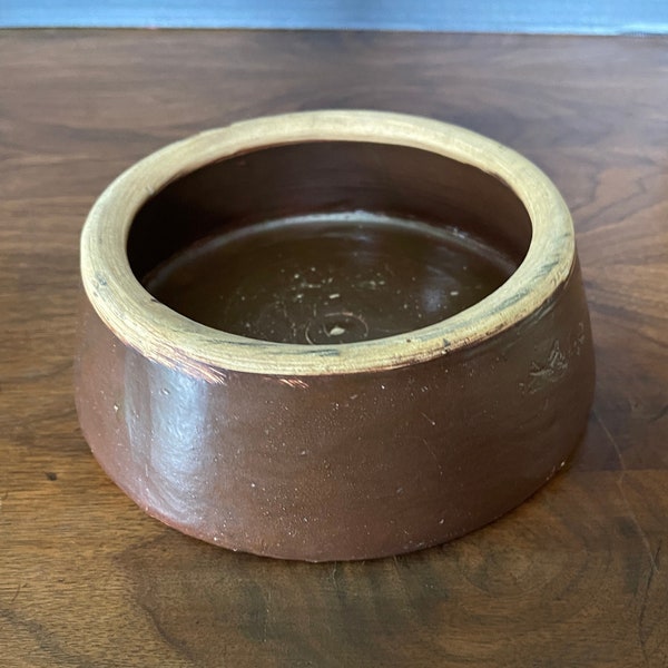
{"type": "Polygon", "coordinates": [[[0,0],[0,27],[668,33],[668,0],[0,0]]]}

